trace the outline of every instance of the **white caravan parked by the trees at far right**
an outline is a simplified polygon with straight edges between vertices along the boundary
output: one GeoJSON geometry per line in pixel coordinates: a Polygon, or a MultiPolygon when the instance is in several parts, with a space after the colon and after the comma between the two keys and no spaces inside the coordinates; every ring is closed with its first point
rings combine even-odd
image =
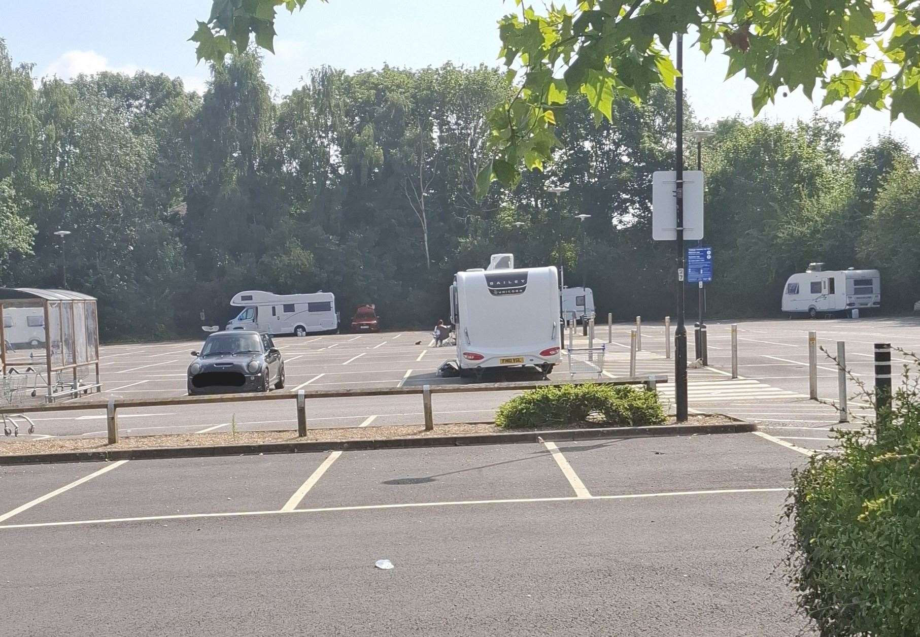
{"type": "Polygon", "coordinates": [[[823,265],[811,263],[805,272],[788,278],[783,288],[783,312],[815,318],[881,306],[878,270],[825,271],[823,265]]]}

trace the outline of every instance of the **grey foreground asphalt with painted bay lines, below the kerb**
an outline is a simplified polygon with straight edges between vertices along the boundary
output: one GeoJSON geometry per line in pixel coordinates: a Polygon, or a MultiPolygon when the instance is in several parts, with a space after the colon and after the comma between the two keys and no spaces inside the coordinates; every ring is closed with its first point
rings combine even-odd
{"type": "Polygon", "coordinates": [[[723,434],[0,467],[5,631],[796,634],[803,459],[723,434]]]}

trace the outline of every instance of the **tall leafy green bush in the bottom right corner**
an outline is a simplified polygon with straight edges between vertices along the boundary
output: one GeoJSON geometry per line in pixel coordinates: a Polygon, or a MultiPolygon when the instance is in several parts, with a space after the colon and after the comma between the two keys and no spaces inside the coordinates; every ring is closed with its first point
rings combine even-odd
{"type": "Polygon", "coordinates": [[[900,399],[878,442],[841,432],[793,472],[788,573],[822,637],[920,635],[920,400],[900,399]]]}

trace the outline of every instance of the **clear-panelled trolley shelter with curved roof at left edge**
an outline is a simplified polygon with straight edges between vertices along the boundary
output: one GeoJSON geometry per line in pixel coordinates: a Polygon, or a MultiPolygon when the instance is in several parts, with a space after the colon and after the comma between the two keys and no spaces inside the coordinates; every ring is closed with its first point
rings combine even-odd
{"type": "Polygon", "coordinates": [[[69,290],[0,288],[0,338],[10,403],[27,396],[52,402],[102,390],[94,297],[69,290]]]}

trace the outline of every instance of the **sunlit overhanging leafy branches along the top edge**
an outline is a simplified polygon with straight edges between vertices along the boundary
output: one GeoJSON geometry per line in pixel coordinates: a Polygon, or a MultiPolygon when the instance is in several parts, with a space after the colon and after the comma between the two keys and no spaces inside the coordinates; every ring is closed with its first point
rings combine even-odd
{"type": "MultiPolygon", "coordinates": [[[[211,16],[190,40],[199,60],[245,51],[250,35],[272,50],[278,6],[306,0],[213,0],[211,16]]],[[[501,52],[515,96],[489,114],[489,150],[480,191],[490,180],[516,184],[520,168],[542,168],[559,144],[569,94],[588,98],[595,121],[613,117],[615,98],[642,100],[674,87],[667,53],[675,34],[695,29],[707,54],[719,44],[729,75],[756,88],[756,114],[778,93],[801,88],[823,104],[843,102],[845,122],[866,107],[903,114],[920,125],[920,3],[915,0],[583,0],[546,14],[515,0],[521,14],[500,21],[501,52]],[[557,76],[560,75],[560,76],[557,76]]]]}

